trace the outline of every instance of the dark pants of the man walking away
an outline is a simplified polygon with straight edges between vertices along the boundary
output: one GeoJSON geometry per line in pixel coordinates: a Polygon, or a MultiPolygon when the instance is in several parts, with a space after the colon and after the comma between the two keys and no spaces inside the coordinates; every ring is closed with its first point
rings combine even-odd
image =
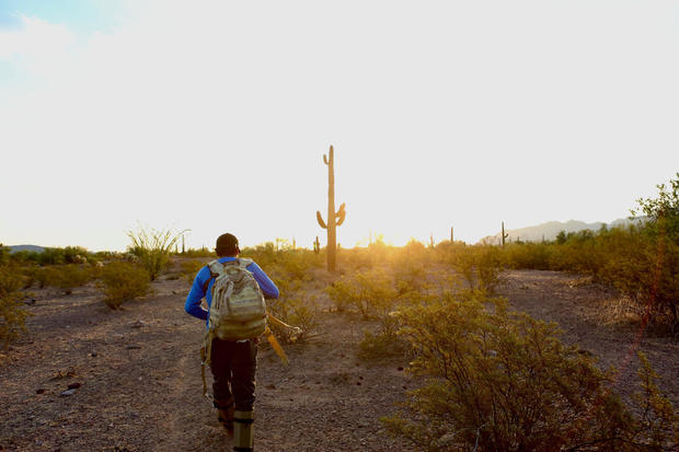
{"type": "Polygon", "coordinates": [[[252,412],[255,398],[257,340],[237,343],[215,338],[210,360],[215,403],[223,406],[233,396],[238,412],[252,412]]]}

